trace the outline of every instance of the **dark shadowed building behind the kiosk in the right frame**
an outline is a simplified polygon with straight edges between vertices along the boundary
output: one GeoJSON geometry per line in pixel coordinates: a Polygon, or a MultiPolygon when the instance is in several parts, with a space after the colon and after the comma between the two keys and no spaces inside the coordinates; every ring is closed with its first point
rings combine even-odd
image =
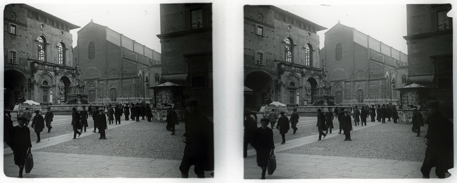
{"type": "Polygon", "coordinates": [[[428,99],[438,100],[448,118],[453,118],[452,18],[446,16],[451,8],[451,4],[406,5],[408,35],[404,36],[409,54],[407,84],[436,88],[428,99]]]}

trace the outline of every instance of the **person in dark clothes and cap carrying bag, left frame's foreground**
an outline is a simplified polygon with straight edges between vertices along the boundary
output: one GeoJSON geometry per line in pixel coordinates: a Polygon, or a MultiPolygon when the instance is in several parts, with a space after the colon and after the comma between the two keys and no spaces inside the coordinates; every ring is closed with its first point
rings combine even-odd
{"type": "Polygon", "coordinates": [[[14,164],[19,166],[19,178],[22,178],[22,171],[26,162],[27,151],[31,150],[32,143],[30,142],[30,130],[24,124],[27,118],[18,117],[19,125],[13,127],[11,132],[11,150],[14,154],[14,164]]]}

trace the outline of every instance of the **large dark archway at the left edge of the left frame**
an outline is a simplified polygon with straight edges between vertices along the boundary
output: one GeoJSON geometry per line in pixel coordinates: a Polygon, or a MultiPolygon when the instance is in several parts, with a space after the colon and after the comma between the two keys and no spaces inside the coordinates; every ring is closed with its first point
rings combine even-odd
{"type": "MultiPolygon", "coordinates": [[[[28,94],[27,79],[24,74],[16,70],[6,70],[4,74],[4,106],[5,109],[13,110],[14,105],[19,102],[19,99],[22,97],[25,98],[25,96],[28,94]]],[[[30,97],[27,96],[27,99],[30,99],[30,97]]]]}

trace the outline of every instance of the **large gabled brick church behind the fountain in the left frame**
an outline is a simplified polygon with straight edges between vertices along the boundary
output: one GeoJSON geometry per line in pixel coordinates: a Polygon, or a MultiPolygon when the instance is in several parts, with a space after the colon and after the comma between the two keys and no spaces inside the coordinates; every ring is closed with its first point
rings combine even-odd
{"type": "Polygon", "coordinates": [[[153,93],[146,87],[159,84],[159,52],[91,20],[78,31],[74,59],[89,102],[153,103],[153,93]]]}

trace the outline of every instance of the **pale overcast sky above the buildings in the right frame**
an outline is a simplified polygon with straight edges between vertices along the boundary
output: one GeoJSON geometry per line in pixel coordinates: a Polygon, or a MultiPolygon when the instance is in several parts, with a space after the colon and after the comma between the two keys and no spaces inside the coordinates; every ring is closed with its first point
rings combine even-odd
{"type": "Polygon", "coordinates": [[[401,52],[408,53],[406,40],[406,5],[277,5],[304,19],[324,26],[318,31],[320,46],[324,33],[340,21],[401,52]]]}

